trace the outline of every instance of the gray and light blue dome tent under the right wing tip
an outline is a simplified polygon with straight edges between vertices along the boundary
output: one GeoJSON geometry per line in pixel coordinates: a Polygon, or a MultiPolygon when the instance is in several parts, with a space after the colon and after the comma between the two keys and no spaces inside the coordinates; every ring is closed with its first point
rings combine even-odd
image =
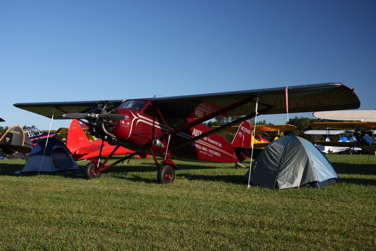
{"type": "Polygon", "coordinates": [[[323,187],[338,182],[332,164],[311,142],[294,135],[271,142],[257,156],[240,183],[285,189],[323,187]]]}

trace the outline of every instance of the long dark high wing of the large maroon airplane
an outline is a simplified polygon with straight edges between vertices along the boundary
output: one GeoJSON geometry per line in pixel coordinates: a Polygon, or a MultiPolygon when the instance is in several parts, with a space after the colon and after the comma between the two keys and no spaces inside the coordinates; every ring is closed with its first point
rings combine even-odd
{"type": "MultiPolygon", "coordinates": [[[[151,98],[156,107],[183,118],[208,116],[248,115],[255,111],[258,100],[259,114],[286,113],[285,87],[248,91],[217,92],[211,94],[151,98]],[[219,112],[219,114],[215,113],[219,112]]],[[[118,106],[123,100],[109,100],[118,106]]],[[[64,113],[87,113],[99,101],[17,103],[15,107],[48,118],[64,119],[64,113]]],[[[360,101],[352,89],[340,83],[290,86],[288,112],[357,109],[360,101]]]]}

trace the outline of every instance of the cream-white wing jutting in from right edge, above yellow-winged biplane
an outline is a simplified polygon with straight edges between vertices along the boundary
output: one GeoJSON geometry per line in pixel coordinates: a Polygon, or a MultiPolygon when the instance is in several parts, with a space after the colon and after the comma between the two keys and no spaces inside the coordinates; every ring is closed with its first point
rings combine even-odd
{"type": "Polygon", "coordinates": [[[314,112],[313,116],[323,119],[334,120],[358,120],[361,122],[376,121],[376,110],[353,110],[353,111],[324,111],[314,112]]]}

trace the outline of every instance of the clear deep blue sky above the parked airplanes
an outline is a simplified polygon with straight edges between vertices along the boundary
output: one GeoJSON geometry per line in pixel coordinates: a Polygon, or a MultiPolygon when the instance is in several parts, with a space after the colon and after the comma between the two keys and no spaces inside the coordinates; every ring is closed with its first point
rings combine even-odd
{"type": "Polygon", "coordinates": [[[375,1],[1,1],[0,126],[49,129],[14,103],[328,82],[373,110],[375,13],[375,1]]]}

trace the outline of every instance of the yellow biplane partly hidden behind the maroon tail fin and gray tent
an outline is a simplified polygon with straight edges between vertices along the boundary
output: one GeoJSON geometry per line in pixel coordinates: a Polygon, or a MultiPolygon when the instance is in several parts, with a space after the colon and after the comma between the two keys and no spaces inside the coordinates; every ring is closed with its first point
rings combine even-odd
{"type": "MultiPolygon", "coordinates": [[[[211,128],[216,129],[218,127],[219,126],[212,126],[211,128]]],[[[231,127],[226,128],[225,130],[228,131],[228,132],[238,132],[239,133],[239,128],[241,128],[241,126],[231,126],[231,127]]],[[[251,142],[252,142],[251,147],[253,147],[253,144],[255,144],[255,147],[258,147],[258,148],[264,148],[268,144],[270,144],[270,142],[268,142],[266,139],[263,139],[261,137],[261,135],[258,135],[258,134],[256,134],[255,139],[253,139],[253,131],[255,129],[263,131],[263,132],[278,132],[278,136],[276,138],[274,138],[274,140],[278,139],[278,137],[283,137],[285,131],[296,130],[296,126],[293,126],[293,125],[260,125],[260,126],[250,126],[250,128],[251,128],[251,131],[252,131],[252,133],[251,133],[251,142]]]]}

